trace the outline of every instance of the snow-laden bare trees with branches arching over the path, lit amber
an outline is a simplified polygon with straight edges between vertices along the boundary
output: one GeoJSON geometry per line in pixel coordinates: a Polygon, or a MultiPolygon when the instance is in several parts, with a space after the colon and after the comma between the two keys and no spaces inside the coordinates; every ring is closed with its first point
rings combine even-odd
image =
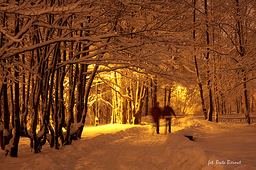
{"type": "Polygon", "coordinates": [[[71,144],[81,137],[88,110],[96,124],[139,124],[160,87],[164,105],[178,85],[192,89],[189,98],[198,95],[209,121],[214,110],[218,118],[221,103],[242,95],[250,123],[255,15],[255,0],[3,1],[6,154],[17,157],[20,136],[30,138],[35,153],[47,141],[57,149],[59,139],[71,144]]]}

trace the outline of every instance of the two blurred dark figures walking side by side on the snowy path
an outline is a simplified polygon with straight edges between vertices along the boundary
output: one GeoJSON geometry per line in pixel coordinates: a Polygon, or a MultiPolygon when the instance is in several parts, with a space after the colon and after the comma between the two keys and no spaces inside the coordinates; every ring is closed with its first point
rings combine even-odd
{"type": "MultiPolygon", "coordinates": [[[[168,132],[171,132],[171,116],[176,116],[173,109],[169,106],[170,102],[167,102],[167,105],[163,108],[163,111],[161,111],[159,107],[159,102],[156,102],[154,107],[150,109],[151,115],[157,125],[157,134],[159,134],[159,120],[160,117],[163,116],[165,119],[165,129],[167,128],[168,125],[168,132]]],[[[167,129],[166,129],[167,131],[167,129]]]]}

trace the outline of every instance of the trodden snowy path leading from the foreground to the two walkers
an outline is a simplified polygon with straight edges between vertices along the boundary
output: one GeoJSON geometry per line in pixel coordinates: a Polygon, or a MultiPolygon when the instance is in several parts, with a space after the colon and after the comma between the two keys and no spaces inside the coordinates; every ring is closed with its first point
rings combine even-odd
{"type": "Polygon", "coordinates": [[[106,144],[79,160],[76,169],[113,170],[115,167],[114,170],[161,170],[166,135],[151,132],[145,130],[106,144]]]}

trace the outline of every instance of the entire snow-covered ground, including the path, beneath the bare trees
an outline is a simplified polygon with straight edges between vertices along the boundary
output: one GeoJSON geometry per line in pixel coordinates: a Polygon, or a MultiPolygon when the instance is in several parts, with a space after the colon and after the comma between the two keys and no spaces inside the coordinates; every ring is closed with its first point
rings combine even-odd
{"type": "Polygon", "coordinates": [[[0,170],[256,170],[255,122],[181,118],[165,134],[161,120],[159,135],[149,116],[142,124],[87,126],[81,140],[60,150],[45,145],[38,154],[22,137],[18,158],[0,150],[0,170]]]}

